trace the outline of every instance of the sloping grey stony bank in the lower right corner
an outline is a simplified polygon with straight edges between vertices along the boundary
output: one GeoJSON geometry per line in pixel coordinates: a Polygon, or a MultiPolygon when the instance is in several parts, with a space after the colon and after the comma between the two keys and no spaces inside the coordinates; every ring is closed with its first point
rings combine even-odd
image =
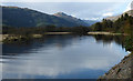
{"type": "Polygon", "coordinates": [[[113,67],[109,72],[104,75],[100,77],[98,81],[132,81],[133,80],[133,52],[113,67]]]}

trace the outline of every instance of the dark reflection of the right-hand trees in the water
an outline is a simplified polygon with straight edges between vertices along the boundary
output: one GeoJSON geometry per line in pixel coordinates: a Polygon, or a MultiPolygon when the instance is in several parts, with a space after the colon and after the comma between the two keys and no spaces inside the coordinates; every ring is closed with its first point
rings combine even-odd
{"type": "Polygon", "coordinates": [[[98,42],[111,43],[115,41],[117,44],[125,48],[126,51],[133,51],[133,34],[131,36],[93,36],[98,42]]]}

